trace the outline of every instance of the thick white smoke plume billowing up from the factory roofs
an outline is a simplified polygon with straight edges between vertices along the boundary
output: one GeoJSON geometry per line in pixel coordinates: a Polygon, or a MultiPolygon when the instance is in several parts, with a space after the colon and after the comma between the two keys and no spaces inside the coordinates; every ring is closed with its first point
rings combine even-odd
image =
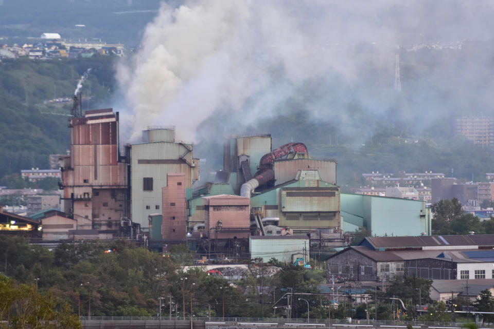
{"type": "MultiPolygon", "coordinates": [[[[148,125],[175,125],[178,139],[197,141],[197,128],[213,114],[235,118],[237,129],[246,127],[283,114],[287,100],[311,83],[313,97],[299,101],[317,120],[327,120],[350,98],[365,104],[368,115],[384,115],[395,101],[397,46],[472,35],[482,40],[492,27],[492,7],[483,4],[486,8],[462,1],[163,4],[146,28],[142,49],[118,67],[132,109],[130,142],[148,125]],[[369,63],[375,75],[362,73],[369,63]],[[383,94],[362,90],[363,79],[384,87],[383,94]]],[[[447,110],[430,95],[417,97],[428,115],[447,110]]],[[[340,120],[350,122],[351,114],[342,112],[340,120]]]]}

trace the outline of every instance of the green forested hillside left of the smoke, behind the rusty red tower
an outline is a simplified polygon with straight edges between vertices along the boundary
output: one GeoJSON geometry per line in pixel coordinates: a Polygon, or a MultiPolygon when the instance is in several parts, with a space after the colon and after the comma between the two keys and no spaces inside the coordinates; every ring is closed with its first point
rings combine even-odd
{"type": "Polygon", "coordinates": [[[114,60],[94,55],[89,59],[0,63],[0,177],[31,167],[46,169],[49,154],[66,152],[67,114],[72,103],[48,101],[72,98],[81,75],[92,68],[81,90],[84,95],[91,94],[91,100],[86,99],[83,108],[108,103],[114,88],[114,60]]]}

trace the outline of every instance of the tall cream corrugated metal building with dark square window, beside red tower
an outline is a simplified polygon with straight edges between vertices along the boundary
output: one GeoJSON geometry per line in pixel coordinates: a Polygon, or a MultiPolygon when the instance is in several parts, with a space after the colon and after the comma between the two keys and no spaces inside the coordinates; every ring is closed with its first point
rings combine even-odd
{"type": "Polygon", "coordinates": [[[199,159],[193,158],[192,143],[175,140],[174,127],[143,131],[143,143],[131,145],[130,159],[132,221],[147,230],[148,215],[161,210],[168,173],[184,173],[186,198],[192,197],[192,183],[199,179],[199,159]]]}

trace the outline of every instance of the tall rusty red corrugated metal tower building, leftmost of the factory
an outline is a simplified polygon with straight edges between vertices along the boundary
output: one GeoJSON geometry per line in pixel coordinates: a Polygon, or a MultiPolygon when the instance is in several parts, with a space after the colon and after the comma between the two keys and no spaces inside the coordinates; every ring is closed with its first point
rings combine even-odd
{"type": "Polygon", "coordinates": [[[127,164],[119,157],[118,112],[88,110],[72,117],[69,128],[62,210],[77,220],[77,229],[117,236],[120,219],[127,216],[127,164]]]}

